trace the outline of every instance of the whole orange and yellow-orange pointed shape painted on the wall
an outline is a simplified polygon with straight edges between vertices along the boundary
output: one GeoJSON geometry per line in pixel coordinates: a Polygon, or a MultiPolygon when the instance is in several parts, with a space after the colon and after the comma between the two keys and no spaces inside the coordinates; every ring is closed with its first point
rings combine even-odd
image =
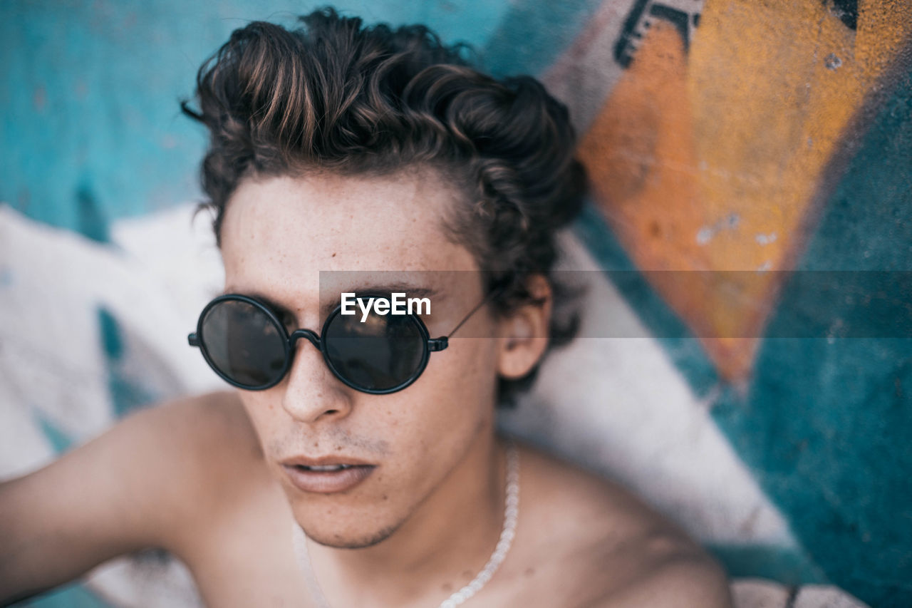
{"type": "MultiPolygon", "coordinates": [[[[600,208],[643,270],[788,269],[814,190],[866,92],[912,33],[912,4],[710,0],[689,57],[654,22],[581,144],[600,208]]],[[[746,378],[780,273],[647,273],[746,378]]]]}

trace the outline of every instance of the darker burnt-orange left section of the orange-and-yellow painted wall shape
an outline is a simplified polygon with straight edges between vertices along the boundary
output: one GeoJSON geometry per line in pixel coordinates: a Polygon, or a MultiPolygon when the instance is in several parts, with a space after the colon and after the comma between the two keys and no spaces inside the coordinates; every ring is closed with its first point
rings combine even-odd
{"type": "MultiPolygon", "coordinates": [[[[693,238],[708,216],[699,195],[685,61],[677,30],[657,22],[580,144],[596,200],[642,270],[711,267],[693,238]]],[[[718,284],[721,275],[645,276],[697,335],[738,335],[741,298],[731,299],[731,288],[718,284]]],[[[750,366],[752,341],[703,344],[727,376],[750,366]]]]}

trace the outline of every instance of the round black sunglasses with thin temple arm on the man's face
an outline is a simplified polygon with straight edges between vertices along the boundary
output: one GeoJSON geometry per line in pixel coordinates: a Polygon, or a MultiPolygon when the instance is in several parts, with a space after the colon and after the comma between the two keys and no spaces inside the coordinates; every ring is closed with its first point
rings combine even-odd
{"type": "Polygon", "coordinates": [[[202,309],[196,332],[187,339],[225,382],[248,391],[280,383],[291,369],[296,341],[306,338],[342,383],[363,393],[395,393],[418,380],[430,353],[446,349],[449,337],[497,291],[490,291],[440,338],[430,338],[415,314],[380,315],[371,310],[362,321],[358,314],[343,315],[341,303],[326,317],[319,334],[303,329],[289,334],[269,305],[229,293],[202,309]]]}

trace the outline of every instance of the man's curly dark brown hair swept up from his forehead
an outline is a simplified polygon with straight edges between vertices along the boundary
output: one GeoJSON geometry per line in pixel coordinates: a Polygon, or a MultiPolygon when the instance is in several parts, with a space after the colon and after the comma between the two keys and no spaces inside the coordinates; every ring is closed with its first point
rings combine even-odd
{"type": "MultiPolygon", "coordinates": [[[[494,79],[472,68],[472,50],[445,46],[425,26],[362,26],[323,8],[288,30],[254,21],[233,31],[199,69],[195,99],[181,110],[210,131],[202,161],[202,207],[214,211],[221,245],[225,206],[248,175],[329,170],[389,174],[435,168],[465,194],[448,218],[500,286],[506,313],[532,296],[523,277],[539,273],[554,310],[571,289],[554,280],[555,229],[579,212],[586,174],[575,160],[565,106],[528,76],[494,79]]],[[[549,349],[575,335],[577,315],[554,314],[549,349]]],[[[500,403],[534,381],[500,380],[500,403]]]]}

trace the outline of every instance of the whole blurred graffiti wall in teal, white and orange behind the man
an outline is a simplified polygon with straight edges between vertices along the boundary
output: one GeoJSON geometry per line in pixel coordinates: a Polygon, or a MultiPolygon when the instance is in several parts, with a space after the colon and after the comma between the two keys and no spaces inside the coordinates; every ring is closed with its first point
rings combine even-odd
{"type": "MultiPolygon", "coordinates": [[[[912,5],[338,6],[571,110],[585,337],[502,425],[677,520],[742,605],[912,605],[912,5]]],[[[314,7],[0,5],[0,477],[222,386],[185,342],[222,269],[177,102],[235,27],[314,7]]],[[[196,602],[150,552],[29,605],[196,602]]]]}

